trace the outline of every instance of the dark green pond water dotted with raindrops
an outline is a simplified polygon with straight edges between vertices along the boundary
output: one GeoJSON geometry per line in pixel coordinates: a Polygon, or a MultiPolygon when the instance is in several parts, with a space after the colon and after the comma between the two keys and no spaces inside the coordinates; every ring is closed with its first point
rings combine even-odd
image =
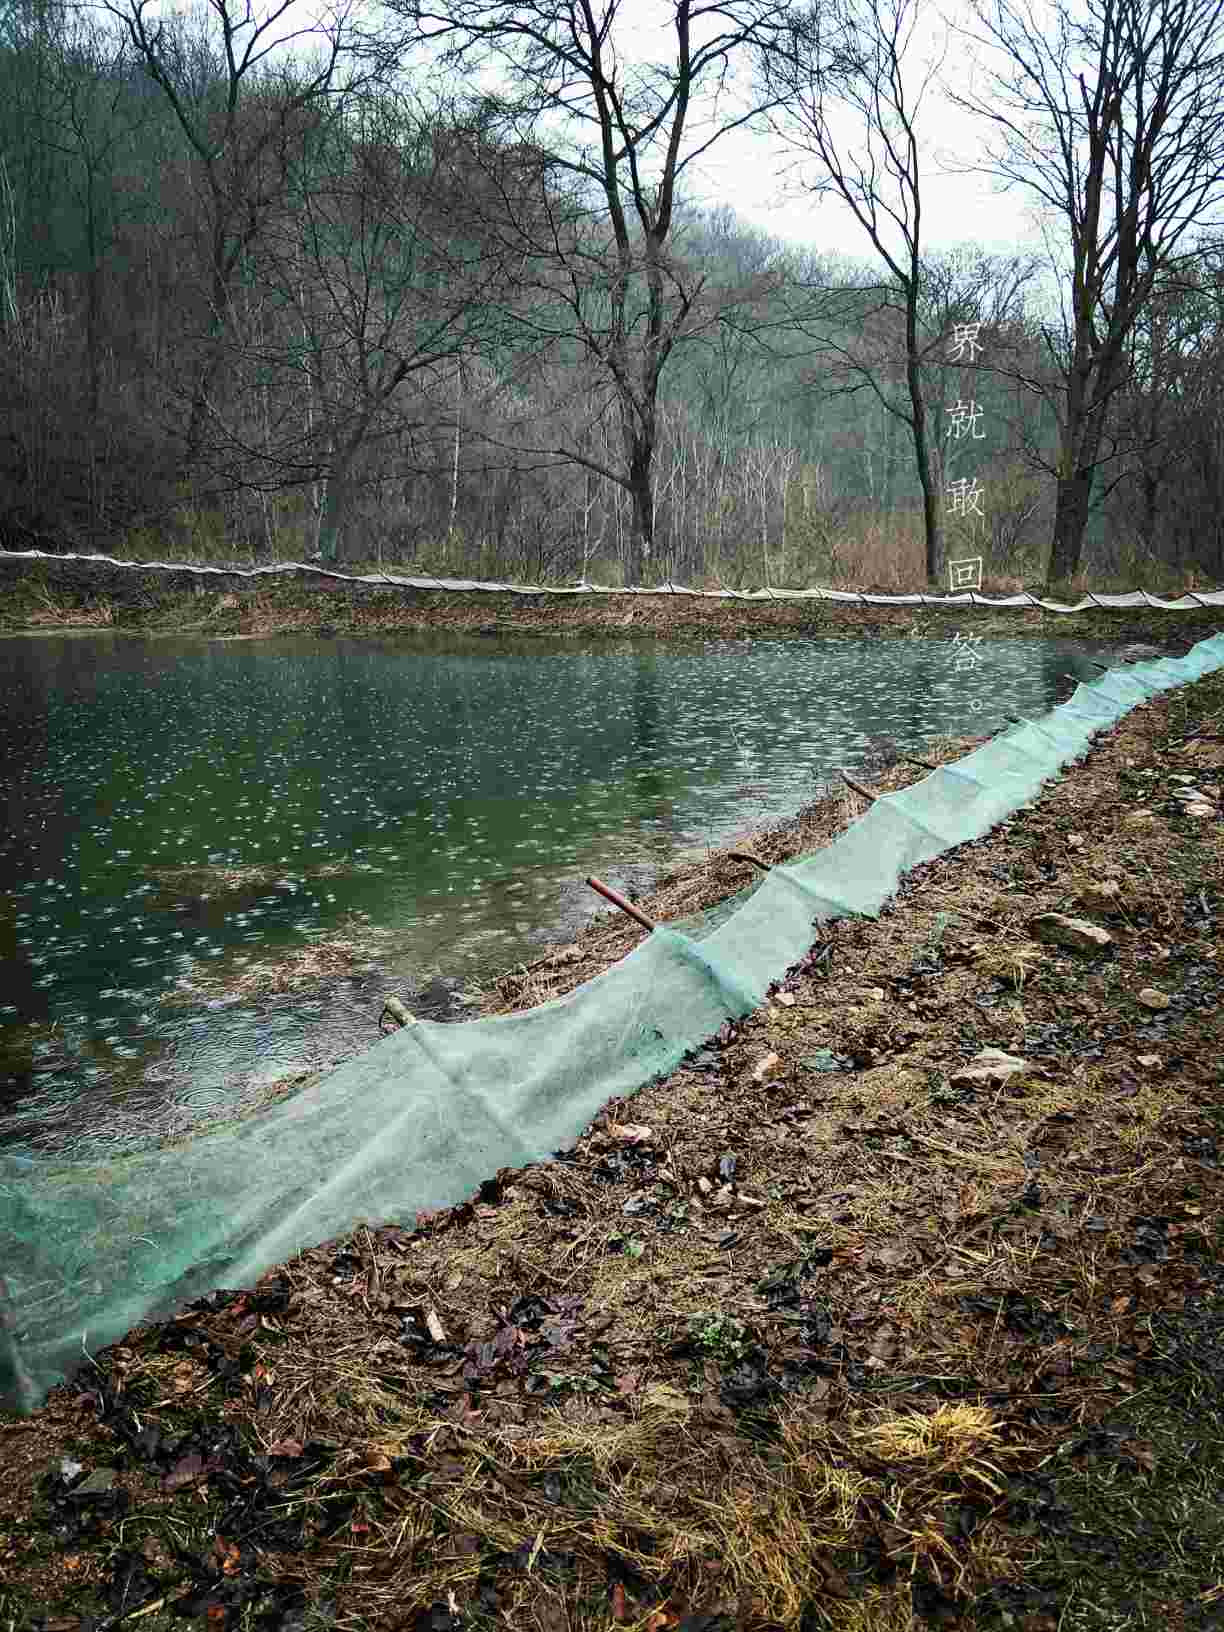
{"type": "MultiPolygon", "coordinates": [[[[1092,648],[1095,650],[1095,648],[1092,648]]],[[[0,1144],[127,1147],[253,1103],[793,811],[871,739],[1040,713],[1090,648],[0,641],[0,1144]],[[251,991],[341,937],[356,965],[251,991]],[[246,982],[246,984],[245,984],[246,982]]],[[[460,992],[462,996],[462,992],[460,992]]]]}

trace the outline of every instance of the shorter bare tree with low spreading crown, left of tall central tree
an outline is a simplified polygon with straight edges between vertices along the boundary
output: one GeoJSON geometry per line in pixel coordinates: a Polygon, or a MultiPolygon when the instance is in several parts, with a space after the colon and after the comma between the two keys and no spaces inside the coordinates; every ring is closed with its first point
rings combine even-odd
{"type": "Polygon", "coordinates": [[[465,359],[499,335],[504,294],[496,246],[486,255],[468,219],[463,153],[441,116],[366,98],[292,168],[251,253],[279,323],[263,346],[242,336],[233,362],[276,382],[284,429],[263,480],[318,483],[326,560],[361,553],[344,535],[362,462],[401,475],[408,432],[429,444],[431,467],[450,465],[454,530],[457,390],[465,359]]]}

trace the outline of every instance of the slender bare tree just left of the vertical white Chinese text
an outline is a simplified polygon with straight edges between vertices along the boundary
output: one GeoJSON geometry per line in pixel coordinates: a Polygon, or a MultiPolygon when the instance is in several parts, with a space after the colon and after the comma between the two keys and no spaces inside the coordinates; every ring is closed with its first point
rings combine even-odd
{"type": "MultiPolygon", "coordinates": [[[[871,289],[878,305],[904,322],[904,398],[870,361],[855,364],[855,390],[870,387],[886,413],[909,428],[922,490],[927,579],[940,571],[940,509],[930,428],[922,393],[922,166],[917,118],[938,64],[912,85],[911,55],[919,0],[831,0],[796,11],[782,41],[759,55],[761,78],[778,137],[803,160],[801,184],[836,194],[885,263],[889,282],[871,289]],[[837,135],[837,113],[855,114],[854,142],[837,135]]],[[[847,359],[852,351],[844,351],[847,359]]]]}

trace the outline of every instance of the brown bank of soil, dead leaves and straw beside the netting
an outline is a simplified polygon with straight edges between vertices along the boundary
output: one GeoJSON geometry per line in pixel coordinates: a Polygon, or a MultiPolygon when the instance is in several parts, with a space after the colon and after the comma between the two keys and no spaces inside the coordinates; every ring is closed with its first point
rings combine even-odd
{"type": "Polygon", "coordinates": [[[0,1417],[0,1627],[1224,1625],[1221,721],[1133,710],[573,1149],[0,1417]]]}

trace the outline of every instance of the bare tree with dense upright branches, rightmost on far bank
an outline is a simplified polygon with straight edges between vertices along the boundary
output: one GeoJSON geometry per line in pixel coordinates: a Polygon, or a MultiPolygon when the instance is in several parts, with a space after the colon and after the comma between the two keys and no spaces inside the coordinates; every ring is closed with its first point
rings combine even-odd
{"type": "Polygon", "coordinates": [[[1224,199],[1219,0],[974,0],[1004,59],[955,100],[994,126],[987,171],[1066,227],[1062,322],[1044,331],[1059,377],[1053,583],[1080,565],[1110,401],[1157,277],[1224,199]]]}

